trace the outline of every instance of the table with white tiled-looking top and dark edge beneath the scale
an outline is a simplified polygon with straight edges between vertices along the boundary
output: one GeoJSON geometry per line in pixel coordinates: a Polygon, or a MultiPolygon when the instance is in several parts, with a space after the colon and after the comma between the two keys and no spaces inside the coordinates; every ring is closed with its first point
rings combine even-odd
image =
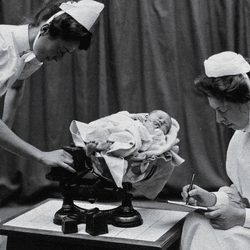
{"type": "MultiPolygon", "coordinates": [[[[75,201],[83,208],[110,209],[116,206],[75,201]]],[[[119,228],[108,225],[108,234],[91,236],[85,224],[78,225],[78,233],[63,234],[61,226],[53,224],[55,212],[62,200],[48,199],[28,211],[0,224],[0,234],[7,235],[7,250],[155,250],[170,249],[180,238],[186,212],[152,209],[137,202],[134,208],[141,214],[143,225],[119,228]]]]}

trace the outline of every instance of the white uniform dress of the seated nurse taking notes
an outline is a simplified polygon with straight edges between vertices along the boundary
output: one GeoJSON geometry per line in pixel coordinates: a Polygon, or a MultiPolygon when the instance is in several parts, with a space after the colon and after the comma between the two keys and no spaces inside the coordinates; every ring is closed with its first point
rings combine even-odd
{"type": "Polygon", "coordinates": [[[222,187],[217,203],[231,204],[246,210],[244,226],[228,230],[214,229],[203,215],[192,213],[184,223],[182,250],[246,250],[250,249],[250,129],[236,131],[227,150],[226,170],[233,185],[222,187]]]}

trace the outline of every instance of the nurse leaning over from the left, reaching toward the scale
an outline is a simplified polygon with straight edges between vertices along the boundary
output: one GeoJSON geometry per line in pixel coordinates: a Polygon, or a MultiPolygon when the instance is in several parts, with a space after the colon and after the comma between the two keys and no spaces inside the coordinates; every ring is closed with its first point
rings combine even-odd
{"type": "Polygon", "coordinates": [[[50,4],[29,25],[0,25],[0,96],[5,95],[0,147],[43,165],[75,172],[69,153],[62,149],[43,152],[23,141],[11,128],[23,97],[24,80],[45,61],[57,61],[66,53],[88,49],[92,36],[89,30],[103,7],[91,0],[50,4]]]}

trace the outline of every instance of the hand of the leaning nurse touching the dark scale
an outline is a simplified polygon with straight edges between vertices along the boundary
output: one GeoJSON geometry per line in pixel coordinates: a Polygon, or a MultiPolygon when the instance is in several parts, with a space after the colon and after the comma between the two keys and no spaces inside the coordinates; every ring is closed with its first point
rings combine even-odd
{"type": "Polygon", "coordinates": [[[40,162],[50,167],[63,167],[72,173],[76,172],[75,169],[71,167],[74,164],[72,155],[63,149],[42,152],[40,162]]]}

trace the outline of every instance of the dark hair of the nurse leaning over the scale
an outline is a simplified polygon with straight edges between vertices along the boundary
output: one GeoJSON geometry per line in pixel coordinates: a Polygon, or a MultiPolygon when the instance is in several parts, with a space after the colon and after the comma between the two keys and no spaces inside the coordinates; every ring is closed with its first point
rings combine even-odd
{"type": "MultiPolygon", "coordinates": [[[[30,26],[38,27],[41,23],[46,22],[51,16],[61,11],[59,6],[63,2],[65,1],[46,4],[35,14],[30,26]]],[[[80,41],[78,48],[80,50],[87,50],[90,46],[92,33],[67,13],[54,18],[48,24],[48,27],[48,34],[52,39],[61,38],[65,41],[80,41]]]]}

